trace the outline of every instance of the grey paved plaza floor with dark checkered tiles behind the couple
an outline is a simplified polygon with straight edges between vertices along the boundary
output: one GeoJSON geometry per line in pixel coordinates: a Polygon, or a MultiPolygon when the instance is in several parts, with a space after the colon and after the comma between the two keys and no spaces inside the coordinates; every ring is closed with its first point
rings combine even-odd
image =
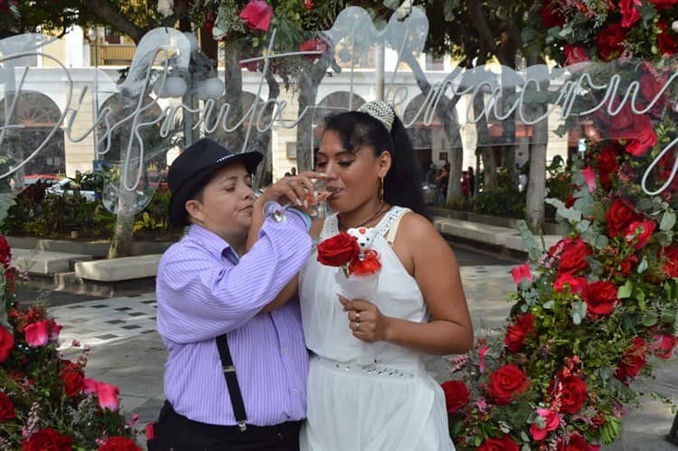
{"type": "MultiPolygon", "coordinates": [[[[472,265],[474,261],[463,252],[457,255],[476,337],[481,337],[505,324],[510,308],[505,298],[513,291],[509,273],[512,263],[482,257],[482,265],[472,265]]],[[[477,263],[478,259],[475,260],[477,263]]],[[[67,355],[78,352],[69,348],[73,339],[89,344],[92,350],[87,376],[118,385],[122,408],[130,416],[137,414],[141,426],[155,418],[164,400],[166,355],[155,332],[155,294],[91,300],[79,296],[75,302],[59,304],[50,311],[64,326],[63,352],[67,355]]],[[[678,403],[678,362],[674,359],[656,363],[656,379],[643,382],[644,390],[659,390],[678,403]]],[[[432,358],[428,366],[438,381],[447,379],[447,366],[442,359],[432,358]]],[[[672,421],[673,415],[663,404],[645,397],[642,409],[627,416],[621,440],[603,449],[678,451],[678,446],[664,440],[672,421]]],[[[143,441],[143,435],[139,436],[139,442],[143,441]]]]}

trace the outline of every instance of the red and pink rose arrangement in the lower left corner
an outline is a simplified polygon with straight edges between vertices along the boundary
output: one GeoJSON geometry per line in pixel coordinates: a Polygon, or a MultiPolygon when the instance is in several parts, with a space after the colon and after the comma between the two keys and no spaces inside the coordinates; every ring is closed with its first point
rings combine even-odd
{"type": "MultiPolygon", "coordinates": [[[[3,236],[0,261],[0,278],[14,280],[3,236]]],[[[140,450],[133,425],[118,411],[118,387],[85,377],[89,348],[74,361],[63,359],[61,326],[44,307],[19,309],[13,284],[5,283],[1,294],[0,449],[140,450]]]]}

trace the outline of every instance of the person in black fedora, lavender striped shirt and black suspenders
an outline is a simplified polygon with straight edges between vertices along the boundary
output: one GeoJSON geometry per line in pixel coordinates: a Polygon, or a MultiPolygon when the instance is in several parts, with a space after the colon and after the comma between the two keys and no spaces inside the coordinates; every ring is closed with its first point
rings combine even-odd
{"type": "Polygon", "coordinates": [[[317,174],[256,199],[261,156],[202,139],[170,167],[170,219],[190,228],[158,268],[167,401],[151,450],[298,449],[308,356],[297,302],[276,301],[295,292],[310,221],[278,202],[303,206],[317,174]]]}

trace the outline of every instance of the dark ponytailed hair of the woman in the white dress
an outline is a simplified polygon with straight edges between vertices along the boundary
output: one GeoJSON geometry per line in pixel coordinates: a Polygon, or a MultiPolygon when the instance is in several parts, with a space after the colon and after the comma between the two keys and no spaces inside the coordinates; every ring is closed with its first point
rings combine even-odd
{"type": "Polygon", "coordinates": [[[361,146],[372,146],[374,156],[379,156],[388,150],[391,168],[384,177],[384,202],[407,207],[430,219],[421,192],[421,168],[414,156],[410,136],[398,117],[393,120],[389,133],[379,119],[360,111],[349,111],[325,117],[326,130],[336,132],[349,152],[361,146]]]}

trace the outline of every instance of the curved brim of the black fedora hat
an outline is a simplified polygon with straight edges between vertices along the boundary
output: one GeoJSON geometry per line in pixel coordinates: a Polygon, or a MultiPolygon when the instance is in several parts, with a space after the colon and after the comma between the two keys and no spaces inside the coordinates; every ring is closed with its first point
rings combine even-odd
{"type": "Polygon", "coordinates": [[[257,166],[261,163],[264,155],[259,152],[244,152],[241,154],[234,154],[223,157],[218,162],[202,169],[201,171],[192,174],[170,198],[169,203],[169,219],[175,226],[187,226],[188,212],[184,205],[189,201],[195,193],[197,193],[204,185],[210,182],[212,175],[228,164],[242,163],[245,164],[245,169],[249,174],[254,174],[257,171],[257,166]]]}

